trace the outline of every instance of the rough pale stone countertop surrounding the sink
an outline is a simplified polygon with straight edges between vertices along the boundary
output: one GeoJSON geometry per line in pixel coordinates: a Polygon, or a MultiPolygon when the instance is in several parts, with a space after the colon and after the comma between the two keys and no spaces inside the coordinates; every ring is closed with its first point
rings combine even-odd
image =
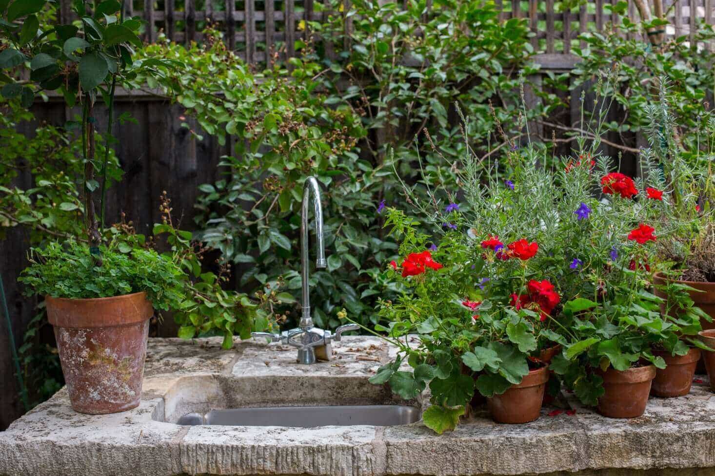
{"type": "MultiPolygon", "coordinates": [[[[334,359],[295,363],[280,344],[220,338],[149,339],[142,403],[115,415],[71,410],[66,390],[0,432],[0,475],[519,475],[611,468],[715,467],[715,395],[706,377],[690,395],[651,398],[645,415],[611,420],[564,394],[576,410],[526,425],[498,425],[485,411],[454,432],[421,422],[397,427],[179,426],[188,411],[261,405],[390,402],[370,385],[393,351],[373,337],[345,337],[334,359]]],[[[715,471],[715,470],[714,470],[715,471]]]]}

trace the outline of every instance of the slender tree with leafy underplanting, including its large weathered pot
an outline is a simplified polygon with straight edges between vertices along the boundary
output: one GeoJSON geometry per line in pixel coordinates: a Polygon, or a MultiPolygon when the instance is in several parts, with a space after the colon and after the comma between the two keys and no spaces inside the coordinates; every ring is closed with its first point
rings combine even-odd
{"type": "MultiPolygon", "coordinates": [[[[82,184],[82,199],[59,208],[83,221],[84,231],[33,249],[20,281],[28,294],[46,297],[74,410],[120,412],[139,404],[154,309],[174,312],[183,324],[180,337],[220,334],[224,347],[231,347],[234,333],[248,337],[273,323],[261,303],[225,292],[221,274],[202,273],[202,248],[190,241],[190,232],[174,227],[165,195],[164,220],[154,227],[154,239],[136,234],[128,223],[104,226],[105,192],[121,177],[110,152],[114,91],[137,74],[157,76],[176,64],[132,61],[134,49],[142,48],[137,36],[142,22],[124,19],[119,1],[74,1],[71,8],[80,20],[64,25],[40,24],[44,7],[44,1],[19,0],[1,6],[0,68],[8,74],[0,75],[5,83],[0,94],[29,107],[36,93],[57,90],[69,106],[81,106],[84,167],[82,177],[71,179],[82,184]],[[28,64],[29,81],[22,79],[28,64]],[[104,137],[96,131],[97,101],[107,106],[104,137]],[[159,243],[169,251],[154,250],[159,243]]],[[[261,301],[277,299],[272,293],[261,301]]]]}

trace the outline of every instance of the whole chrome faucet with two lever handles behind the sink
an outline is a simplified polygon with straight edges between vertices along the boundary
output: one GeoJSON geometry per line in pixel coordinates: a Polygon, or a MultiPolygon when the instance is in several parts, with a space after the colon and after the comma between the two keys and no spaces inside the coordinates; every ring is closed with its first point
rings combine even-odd
{"type": "Polygon", "coordinates": [[[300,209],[300,265],[302,282],[302,302],[300,322],[296,329],[283,331],[280,334],[270,332],[252,332],[254,337],[267,337],[271,342],[281,342],[298,348],[297,361],[300,364],[315,364],[317,360],[330,360],[332,354],[331,342],[340,342],[343,332],[358,330],[357,324],[345,324],[335,329],[335,334],[329,330],[319,329],[313,325],[310,316],[310,274],[308,269],[308,213],[312,194],[313,213],[315,214],[315,248],[317,259],[315,266],[325,268],[325,242],[322,232],[322,205],[320,204],[320,187],[315,177],[305,179],[303,198],[300,209]]]}

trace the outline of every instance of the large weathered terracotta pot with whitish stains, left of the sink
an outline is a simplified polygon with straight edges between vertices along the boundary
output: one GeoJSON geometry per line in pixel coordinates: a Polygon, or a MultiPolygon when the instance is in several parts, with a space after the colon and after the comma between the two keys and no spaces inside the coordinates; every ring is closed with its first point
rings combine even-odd
{"type": "Polygon", "coordinates": [[[76,412],[139,405],[152,303],[137,292],[97,299],[45,297],[69,401],[76,412]]]}

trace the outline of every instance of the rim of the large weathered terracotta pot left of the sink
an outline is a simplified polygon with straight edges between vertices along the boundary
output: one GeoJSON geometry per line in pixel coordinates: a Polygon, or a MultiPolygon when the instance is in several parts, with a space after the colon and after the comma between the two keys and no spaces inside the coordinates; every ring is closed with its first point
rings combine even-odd
{"type": "Polygon", "coordinates": [[[46,296],[45,307],[50,324],[70,329],[138,324],[154,314],[152,303],[144,291],[79,299],[46,296]]]}

